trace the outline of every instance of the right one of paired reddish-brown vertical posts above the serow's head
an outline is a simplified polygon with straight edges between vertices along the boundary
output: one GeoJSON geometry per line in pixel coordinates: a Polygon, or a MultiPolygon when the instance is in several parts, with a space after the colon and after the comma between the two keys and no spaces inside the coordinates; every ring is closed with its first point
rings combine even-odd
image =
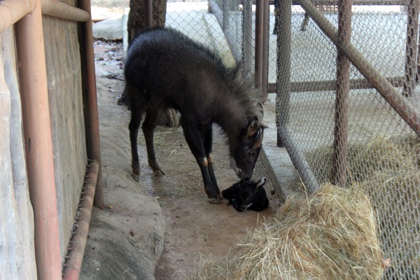
{"type": "Polygon", "coordinates": [[[262,62],[261,62],[261,100],[268,100],[268,37],[269,37],[269,4],[263,0],[262,11],[262,62]]]}

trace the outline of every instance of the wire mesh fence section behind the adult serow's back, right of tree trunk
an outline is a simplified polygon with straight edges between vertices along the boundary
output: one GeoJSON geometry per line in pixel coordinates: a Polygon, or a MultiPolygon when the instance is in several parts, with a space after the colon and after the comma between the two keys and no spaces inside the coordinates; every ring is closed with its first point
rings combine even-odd
{"type": "MultiPolygon", "coordinates": [[[[274,6],[272,6],[274,10],[274,6]]],[[[165,17],[165,26],[178,29],[218,52],[227,66],[241,63],[244,73],[252,76],[255,59],[255,5],[243,0],[167,1],[166,13],[153,10],[155,16],[165,17]]],[[[274,12],[273,12],[274,13],[274,12]]],[[[274,26],[274,17],[272,17],[274,26]]],[[[275,37],[274,37],[275,38],[275,37]]],[[[273,61],[275,73],[275,42],[273,61]]],[[[275,83],[275,74],[272,75],[275,83]]]]}

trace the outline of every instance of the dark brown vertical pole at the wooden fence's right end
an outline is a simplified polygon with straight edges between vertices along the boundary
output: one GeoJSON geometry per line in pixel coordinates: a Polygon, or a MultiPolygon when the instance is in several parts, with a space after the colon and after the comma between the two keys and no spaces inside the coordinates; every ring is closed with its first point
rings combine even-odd
{"type": "MultiPolygon", "coordinates": [[[[79,8],[89,15],[90,0],[78,1],[79,8]]],[[[87,158],[99,165],[97,187],[94,193],[94,206],[104,204],[104,182],[102,181],[101,148],[99,141],[99,118],[97,106],[96,78],[94,72],[94,51],[92,19],[80,24],[82,29],[80,40],[80,59],[82,68],[83,108],[85,115],[87,158]]]]}

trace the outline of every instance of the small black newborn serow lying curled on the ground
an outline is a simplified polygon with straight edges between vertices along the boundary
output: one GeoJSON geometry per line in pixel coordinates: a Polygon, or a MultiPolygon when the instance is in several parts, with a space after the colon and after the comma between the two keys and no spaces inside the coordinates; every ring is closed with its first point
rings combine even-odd
{"type": "Polygon", "coordinates": [[[241,180],[230,188],[222,190],[222,195],[239,212],[248,209],[262,211],[268,207],[267,193],[262,188],[265,182],[265,177],[258,182],[241,180]]]}

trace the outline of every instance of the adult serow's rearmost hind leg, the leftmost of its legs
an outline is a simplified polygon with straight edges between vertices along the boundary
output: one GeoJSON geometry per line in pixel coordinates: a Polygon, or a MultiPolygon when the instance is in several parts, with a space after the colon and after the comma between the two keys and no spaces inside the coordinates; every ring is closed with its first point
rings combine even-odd
{"type": "Polygon", "coordinates": [[[134,180],[138,182],[140,177],[140,165],[139,152],[137,151],[137,135],[139,134],[139,126],[141,117],[144,113],[144,108],[139,102],[132,102],[131,111],[132,116],[128,128],[130,130],[130,144],[132,148],[132,176],[134,180]]]}

